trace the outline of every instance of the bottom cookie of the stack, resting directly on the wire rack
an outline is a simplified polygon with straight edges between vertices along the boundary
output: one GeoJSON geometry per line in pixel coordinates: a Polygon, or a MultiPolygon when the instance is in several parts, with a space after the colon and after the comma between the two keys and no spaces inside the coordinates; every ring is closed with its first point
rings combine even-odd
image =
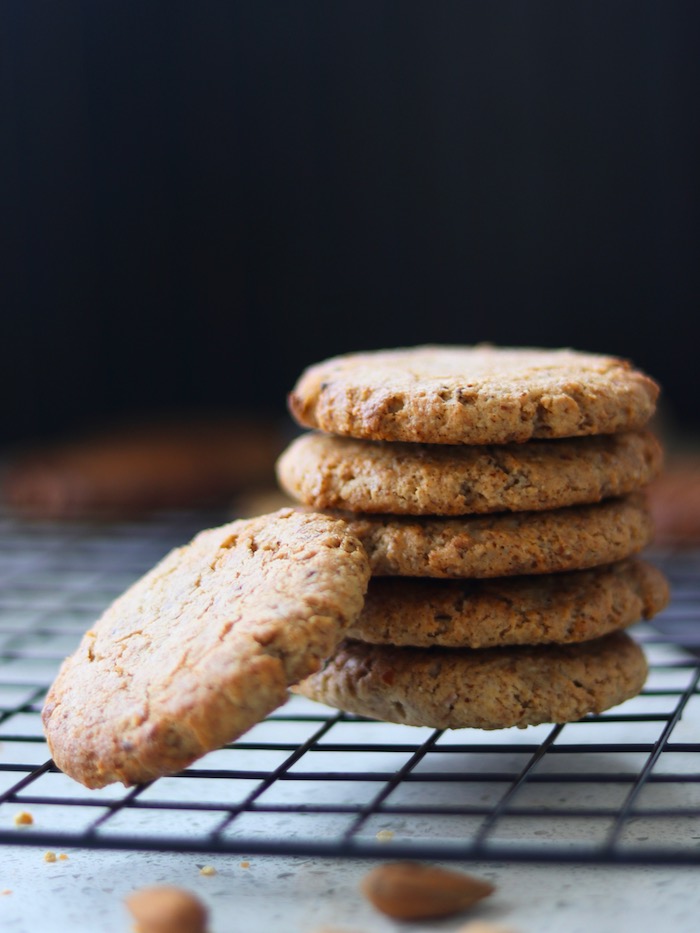
{"type": "Polygon", "coordinates": [[[636,696],[647,664],[624,632],[578,645],[396,648],[346,641],[296,693],[371,719],[434,729],[572,722],[636,696]]]}

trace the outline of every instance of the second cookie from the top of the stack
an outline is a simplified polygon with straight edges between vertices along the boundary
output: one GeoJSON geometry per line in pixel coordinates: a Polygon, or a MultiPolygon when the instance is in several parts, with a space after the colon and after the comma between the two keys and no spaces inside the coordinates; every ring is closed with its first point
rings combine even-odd
{"type": "Polygon", "coordinates": [[[277,463],[290,496],[321,509],[393,515],[522,512],[599,502],[658,475],[650,431],[469,447],[310,432],[277,463]]]}

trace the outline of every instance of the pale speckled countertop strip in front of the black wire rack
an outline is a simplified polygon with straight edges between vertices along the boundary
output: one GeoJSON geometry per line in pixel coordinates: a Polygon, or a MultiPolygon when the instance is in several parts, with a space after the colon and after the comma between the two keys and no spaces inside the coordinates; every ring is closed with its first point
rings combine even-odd
{"type": "Polygon", "coordinates": [[[516,933],[694,933],[700,916],[697,869],[478,864],[496,893],[469,914],[434,923],[397,923],[358,893],[366,862],[256,857],[248,868],[232,856],[69,852],[47,864],[43,851],[2,850],[3,933],[128,933],[124,897],[135,886],[176,884],[211,911],[211,933],[453,933],[484,920],[516,933]],[[198,866],[216,874],[202,876],[198,866]]]}

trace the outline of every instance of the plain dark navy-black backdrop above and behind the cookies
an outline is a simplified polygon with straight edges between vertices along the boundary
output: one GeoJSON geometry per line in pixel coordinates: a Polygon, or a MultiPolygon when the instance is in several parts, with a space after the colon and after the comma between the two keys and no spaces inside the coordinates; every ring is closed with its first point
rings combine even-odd
{"type": "Polygon", "coordinates": [[[697,2],[0,11],[3,441],[425,341],[622,354],[700,419],[697,2]]]}

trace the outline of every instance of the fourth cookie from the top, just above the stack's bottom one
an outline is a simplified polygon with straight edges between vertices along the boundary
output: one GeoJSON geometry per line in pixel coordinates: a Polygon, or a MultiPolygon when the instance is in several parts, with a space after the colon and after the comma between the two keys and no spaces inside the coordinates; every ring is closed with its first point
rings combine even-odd
{"type": "Polygon", "coordinates": [[[650,619],[668,596],[661,571],[635,558],[496,580],[376,578],[347,637],[423,648],[568,644],[650,619]]]}

